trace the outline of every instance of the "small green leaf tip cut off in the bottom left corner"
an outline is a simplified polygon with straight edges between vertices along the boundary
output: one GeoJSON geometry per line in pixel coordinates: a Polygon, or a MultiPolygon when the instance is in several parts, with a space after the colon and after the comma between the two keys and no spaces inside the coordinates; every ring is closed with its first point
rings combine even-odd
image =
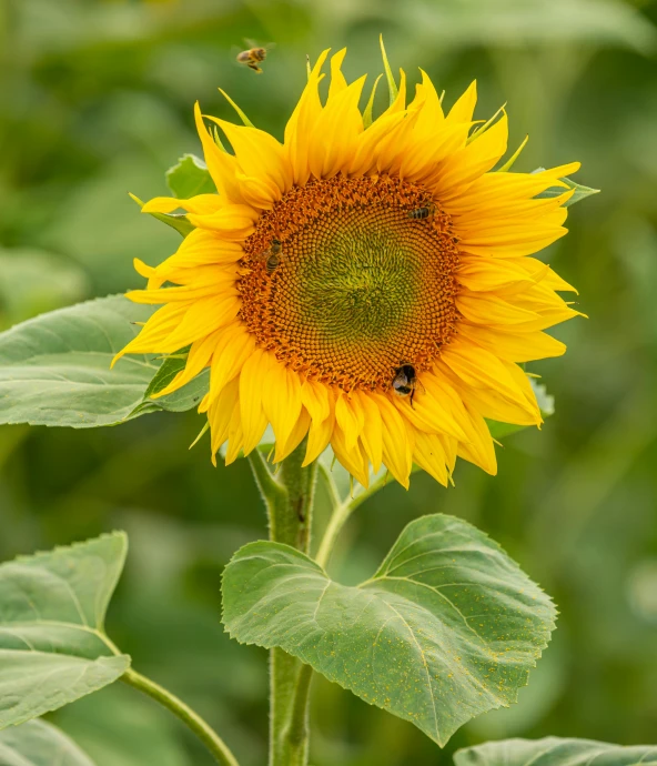
{"type": "Polygon", "coordinates": [[[0,766],[93,766],[84,753],[44,720],[0,732],[0,766]]]}

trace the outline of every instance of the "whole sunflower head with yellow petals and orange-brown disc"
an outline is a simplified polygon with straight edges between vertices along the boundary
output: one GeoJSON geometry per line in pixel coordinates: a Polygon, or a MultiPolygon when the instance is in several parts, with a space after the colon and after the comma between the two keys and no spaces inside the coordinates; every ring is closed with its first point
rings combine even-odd
{"type": "Polygon", "coordinates": [[[493,172],[504,110],[474,121],[473,83],[444,113],[422,70],[410,103],[404,72],[398,89],[391,79],[372,121],[375,88],[361,111],[365,77],[347,83],[345,52],[324,104],[328,51],[309,71],[283,143],[206,118],[230,153],[196,104],[218,193],[143,206],[181,208],[194,230],[159,266],[135,262],[148,288],[129,298],[163,305],[121,354],[190,346],[160,396],[210,367],[199,410],[213,461],[226,441],[226,463],[247,454],[271,424],[275,462],[307,436],[305,464],[331,445],[365,486],[385,465],[407,487],[413,463],[447,484],[457,456],[494,474],[486,419],[542,423],[518,365],[563,354],[544,331],[578,313],[532,254],[566,233],[559,179],[579,164],[493,172]]]}

